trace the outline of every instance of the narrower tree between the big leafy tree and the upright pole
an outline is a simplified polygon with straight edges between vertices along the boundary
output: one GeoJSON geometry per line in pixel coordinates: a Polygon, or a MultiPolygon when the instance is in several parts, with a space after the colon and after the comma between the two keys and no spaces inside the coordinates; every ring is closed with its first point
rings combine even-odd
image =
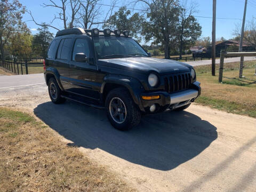
{"type": "Polygon", "coordinates": [[[195,3],[191,3],[190,6],[188,6],[187,0],[183,1],[177,27],[180,59],[182,58],[183,50],[188,49],[191,45],[195,44],[196,40],[202,34],[202,27],[192,15],[195,12],[195,3]]]}

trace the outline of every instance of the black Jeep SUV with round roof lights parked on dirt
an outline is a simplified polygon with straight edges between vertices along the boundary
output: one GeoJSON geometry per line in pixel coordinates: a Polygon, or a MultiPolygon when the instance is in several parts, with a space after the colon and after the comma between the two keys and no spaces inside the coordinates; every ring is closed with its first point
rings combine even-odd
{"type": "Polygon", "coordinates": [[[119,130],[139,124],[141,114],[183,110],[200,94],[193,67],[151,58],[129,31],[58,31],[44,61],[53,103],[66,99],[105,108],[119,130]]]}

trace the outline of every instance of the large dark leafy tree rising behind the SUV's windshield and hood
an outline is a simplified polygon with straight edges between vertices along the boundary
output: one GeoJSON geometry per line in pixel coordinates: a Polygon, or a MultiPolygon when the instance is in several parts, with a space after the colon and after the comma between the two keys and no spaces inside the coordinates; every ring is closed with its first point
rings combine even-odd
{"type": "Polygon", "coordinates": [[[179,21],[178,0],[138,0],[145,4],[148,21],[142,23],[142,35],[146,42],[152,40],[164,47],[165,59],[170,58],[171,47],[175,46],[177,39],[177,22],[179,21]]]}

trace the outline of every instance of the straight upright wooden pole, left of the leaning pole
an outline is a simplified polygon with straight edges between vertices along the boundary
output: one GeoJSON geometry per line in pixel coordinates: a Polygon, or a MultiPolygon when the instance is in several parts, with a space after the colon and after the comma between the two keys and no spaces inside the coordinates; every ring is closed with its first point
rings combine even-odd
{"type": "Polygon", "coordinates": [[[215,76],[216,1],[212,1],[212,76],[215,76]]]}

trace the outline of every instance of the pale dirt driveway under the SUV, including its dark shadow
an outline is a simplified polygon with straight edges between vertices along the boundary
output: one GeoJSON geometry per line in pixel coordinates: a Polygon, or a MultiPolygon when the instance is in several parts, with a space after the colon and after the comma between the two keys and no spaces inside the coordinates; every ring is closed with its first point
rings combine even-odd
{"type": "Polygon", "coordinates": [[[0,89],[0,106],[33,114],[139,191],[255,191],[255,118],[193,104],[121,132],[103,110],[54,105],[45,84],[0,89]]]}

